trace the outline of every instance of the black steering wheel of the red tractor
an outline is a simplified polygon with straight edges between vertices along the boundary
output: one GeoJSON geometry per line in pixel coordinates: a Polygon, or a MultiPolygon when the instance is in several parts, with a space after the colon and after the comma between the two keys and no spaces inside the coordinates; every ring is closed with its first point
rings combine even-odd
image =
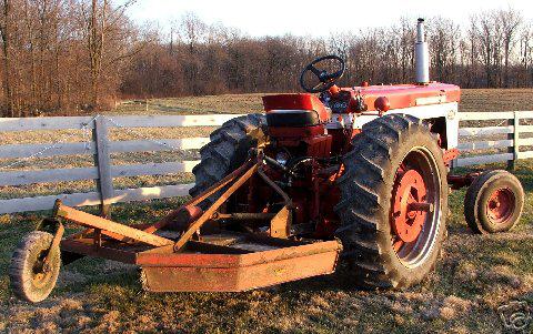
{"type": "Polygon", "coordinates": [[[335,84],[336,81],[339,81],[342,75],[344,74],[344,71],[346,70],[346,65],[344,64],[344,60],[340,58],[339,55],[325,55],[321,58],[316,58],[313,60],[309,65],[303,69],[302,74],[300,75],[300,85],[303,88],[304,91],[308,93],[321,93],[335,84]],[[333,60],[335,63],[339,65],[339,70],[333,73],[329,73],[326,70],[319,70],[316,69],[315,64],[324,62],[326,60],[333,60]],[[305,84],[304,77],[308,72],[312,72],[316,79],[319,79],[319,84],[314,85],[313,88],[310,88],[305,84]]]}

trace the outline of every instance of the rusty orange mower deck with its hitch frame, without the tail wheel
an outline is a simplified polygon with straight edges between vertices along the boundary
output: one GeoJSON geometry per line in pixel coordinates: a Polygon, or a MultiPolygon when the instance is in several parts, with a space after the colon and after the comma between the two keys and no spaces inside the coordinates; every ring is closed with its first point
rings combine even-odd
{"type": "MultiPolygon", "coordinates": [[[[232,214],[237,219],[271,220],[270,235],[228,231],[198,234],[207,221],[225,216],[218,209],[254,173],[265,178],[261,163],[250,160],[153,224],[127,226],[58,201],[54,217],[49,219],[58,224],[56,241],[61,237],[62,223],[87,227],[61,241],[63,263],[88,255],[135,264],[142,270],[143,287],[153,292],[238,292],[334,272],[342,249],[338,241],[284,239],[290,227],[288,208],[291,203],[273,182],[272,188],[286,200],[279,213],[232,214]],[[223,193],[208,210],[203,212],[197,206],[220,191],[223,193]],[[161,230],[169,225],[185,225],[187,229],[180,232],[161,230]]],[[[265,182],[269,183],[268,178],[265,182]]]]}

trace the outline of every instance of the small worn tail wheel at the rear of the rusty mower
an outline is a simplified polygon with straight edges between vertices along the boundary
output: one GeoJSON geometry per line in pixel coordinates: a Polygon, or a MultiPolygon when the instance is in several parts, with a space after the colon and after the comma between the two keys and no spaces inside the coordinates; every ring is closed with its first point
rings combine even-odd
{"type": "Polygon", "coordinates": [[[18,245],[9,266],[13,293],[21,300],[38,303],[48,297],[58,281],[61,265],[60,250],[50,249],[53,235],[33,231],[18,245]],[[49,265],[44,257],[50,254],[49,265]]]}

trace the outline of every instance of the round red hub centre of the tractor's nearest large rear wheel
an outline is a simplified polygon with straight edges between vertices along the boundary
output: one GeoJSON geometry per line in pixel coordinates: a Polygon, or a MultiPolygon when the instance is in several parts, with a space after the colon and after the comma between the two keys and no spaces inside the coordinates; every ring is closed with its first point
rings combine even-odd
{"type": "Polygon", "coordinates": [[[408,243],[420,235],[429,211],[433,211],[426,200],[426,186],[416,170],[399,174],[393,193],[392,229],[398,237],[408,243]]]}

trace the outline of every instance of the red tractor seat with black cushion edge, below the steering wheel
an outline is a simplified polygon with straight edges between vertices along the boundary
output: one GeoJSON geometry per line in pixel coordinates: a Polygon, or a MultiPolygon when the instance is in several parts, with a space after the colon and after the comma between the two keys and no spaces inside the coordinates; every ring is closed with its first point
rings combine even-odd
{"type": "Polygon", "coordinates": [[[314,126],[331,119],[331,110],[311,94],[263,97],[269,126],[314,126]]]}

